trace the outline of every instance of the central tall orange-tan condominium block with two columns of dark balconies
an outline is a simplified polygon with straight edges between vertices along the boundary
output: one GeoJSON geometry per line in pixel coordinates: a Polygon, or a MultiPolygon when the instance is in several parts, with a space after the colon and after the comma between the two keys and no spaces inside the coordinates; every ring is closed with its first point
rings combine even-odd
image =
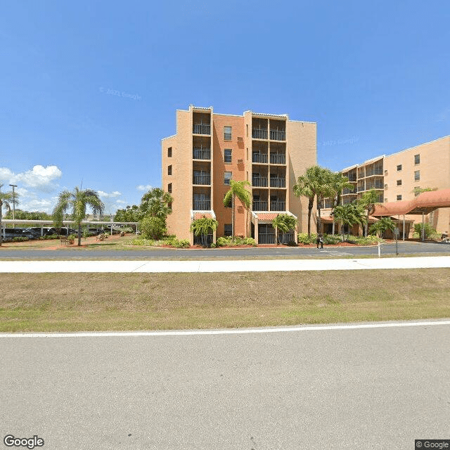
{"type": "MultiPolygon", "coordinates": [[[[162,188],[174,198],[169,233],[193,243],[191,223],[205,216],[219,222],[214,235],[231,235],[231,208],[224,207],[231,179],[252,185],[251,209],[236,202],[236,236],[274,243],[271,221],[281,212],[297,217],[304,231],[307,199],[295,197],[293,185],[316,164],[316,141],[315,123],[288,115],[225,115],[193,105],[177,110],[176,134],[162,139],[162,188]]],[[[285,237],[294,240],[296,233],[285,237]]]]}

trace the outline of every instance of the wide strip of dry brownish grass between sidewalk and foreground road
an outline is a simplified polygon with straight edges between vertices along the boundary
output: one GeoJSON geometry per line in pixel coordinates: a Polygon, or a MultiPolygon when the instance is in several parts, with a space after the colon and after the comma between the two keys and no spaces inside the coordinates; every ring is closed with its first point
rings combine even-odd
{"type": "Polygon", "coordinates": [[[0,331],[169,330],[450,317],[450,269],[1,274],[0,331]]]}

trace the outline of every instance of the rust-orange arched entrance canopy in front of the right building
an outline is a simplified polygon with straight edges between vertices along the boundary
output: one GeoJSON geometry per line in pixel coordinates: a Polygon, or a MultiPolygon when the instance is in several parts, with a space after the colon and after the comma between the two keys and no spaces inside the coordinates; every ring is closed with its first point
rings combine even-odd
{"type": "Polygon", "coordinates": [[[376,205],[373,216],[398,216],[404,214],[429,214],[438,208],[450,207],[450,189],[423,192],[413,200],[376,205]]]}

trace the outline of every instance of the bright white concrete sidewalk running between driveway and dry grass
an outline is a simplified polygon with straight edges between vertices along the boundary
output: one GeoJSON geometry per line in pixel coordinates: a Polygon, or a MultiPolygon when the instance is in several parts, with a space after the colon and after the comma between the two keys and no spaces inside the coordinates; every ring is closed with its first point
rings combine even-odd
{"type": "Polygon", "coordinates": [[[427,269],[450,267],[449,256],[364,259],[275,259],[240,261],[0,261],[0,273],[62,272],[269,272],[427,269]]]}

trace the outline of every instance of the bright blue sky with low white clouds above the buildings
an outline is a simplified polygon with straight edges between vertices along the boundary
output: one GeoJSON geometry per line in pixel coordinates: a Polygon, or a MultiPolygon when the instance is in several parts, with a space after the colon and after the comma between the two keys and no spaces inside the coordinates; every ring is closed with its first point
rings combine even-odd
{"type": "Polygon", "coordinates": [[[190,103],[317,122],[333,170],[446,136],[449,23],[442,0],[4,2],[0,183],[26,210],[81,183],[139,203],[190,103]]]}

